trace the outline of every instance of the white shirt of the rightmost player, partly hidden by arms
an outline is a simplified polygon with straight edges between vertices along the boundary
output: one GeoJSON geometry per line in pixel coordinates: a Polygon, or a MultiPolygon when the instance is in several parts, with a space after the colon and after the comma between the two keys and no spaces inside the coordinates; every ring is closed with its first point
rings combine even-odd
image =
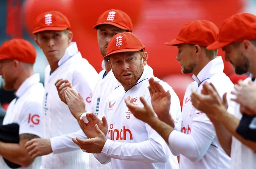
{"type": "MultiPolygon", "coordinates": [[[[244,83],[248,83],[250,80],[251,78],[247,78],[244,83]]],[[[256,84],[255,80],[254,84],[256,84]]],[[[242,118],[238,103],[235,103],[234,116],[239,120],[242,118]]],[[[231,147],[231,169],[256,169],[256,153],[234,136],[231,147]]]]}

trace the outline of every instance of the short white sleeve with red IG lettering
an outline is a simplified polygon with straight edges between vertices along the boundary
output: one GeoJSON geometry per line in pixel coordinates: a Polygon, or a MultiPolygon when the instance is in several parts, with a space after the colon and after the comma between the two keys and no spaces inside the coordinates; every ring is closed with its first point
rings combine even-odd
{"type": "Polygon", "coordinates": [[[20,114],[19,134],[34,134],[42,137],[42,103],[26,101],[20,114]]]}

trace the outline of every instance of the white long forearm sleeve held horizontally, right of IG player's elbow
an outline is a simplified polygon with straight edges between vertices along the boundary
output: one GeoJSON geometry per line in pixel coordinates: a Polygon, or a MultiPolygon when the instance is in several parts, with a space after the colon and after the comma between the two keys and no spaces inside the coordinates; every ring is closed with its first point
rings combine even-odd
{"type": "Polygon", "coordinates": [[[76,137],[79,137],[80,139],[88,139],[87,135],[85,135],[82,129],[75,133],[69,133],[51,138],[50,144],[52,147],[52,152],[54,154],[58,154],[80,149],[80,147],[78,147],[78,145],[72,141],[72,138],[76,137]]]}

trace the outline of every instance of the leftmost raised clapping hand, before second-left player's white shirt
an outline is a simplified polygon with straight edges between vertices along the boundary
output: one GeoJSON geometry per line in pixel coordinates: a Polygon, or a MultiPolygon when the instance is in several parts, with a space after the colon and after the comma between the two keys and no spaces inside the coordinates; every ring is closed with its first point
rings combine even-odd
{"type": "Polygon", "coordinates": [[[55,82],[55,86],[58,91],[58,96],[60,97],[60,100],[63,101],[65,104],[67,104],[67,101],[65,99],[64,91],[70,87],[73,88],[69,80],[67,79],[59,79],[55,82]]]}

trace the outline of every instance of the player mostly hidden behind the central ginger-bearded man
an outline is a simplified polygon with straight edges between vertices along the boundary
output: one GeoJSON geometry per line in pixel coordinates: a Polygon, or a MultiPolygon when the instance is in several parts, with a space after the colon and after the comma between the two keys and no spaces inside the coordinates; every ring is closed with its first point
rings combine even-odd
{"type": "MultiPolygon", "coordinates": [[[[104,56],[107,53],[107,44],[113,36],[122,32],[132,32],[133,24],[131,18],[121,10],[107,10],[105,11],[98,19],[97,24],[94,26],[97,29],[97,39],[99,43],[99,48],[101,54],[104,56]],[[109,15],[112,15],[113,18],[110,20],[109,15]]],[[[92,106],[91,111],[97,117],[102,119],[104,115],[103,109],[105,108],[105,102],[109,93],[120,84],[115,78],[107,58],[104,58],[102,62],[103,70],[99,73],[99,82],[97,83],[95,90],[93,92],[92,106]]],[[[69,81],[66,79],[58,80],[56,82],[56,87],[60,99],[66,103],[65,97],[63,95],[65,89],[69,86],[69,81]],[[63,84],[64,83],[64,84],[63,84]]],[[[82,95],[83,96],[83,95],[82,95]]],[[[86,96],[83,96],[86,97],[86,96]]],[[[82,139],[87,139],[88,137],[84,134],[83,130],[78,131],[77,133],[71,133],[67,135],[61,135],[54,138],[52,145],[53,153],[62,153],[67,151],[73,151],[75,149],[80,149],[77,144],[72,141],[72,138],[79,137],[82,139]]],[[[102,165],[93,154],[89,154],[89,166],[91,169],[109,169],[111,168],[111,163],[102,165]]]]}

